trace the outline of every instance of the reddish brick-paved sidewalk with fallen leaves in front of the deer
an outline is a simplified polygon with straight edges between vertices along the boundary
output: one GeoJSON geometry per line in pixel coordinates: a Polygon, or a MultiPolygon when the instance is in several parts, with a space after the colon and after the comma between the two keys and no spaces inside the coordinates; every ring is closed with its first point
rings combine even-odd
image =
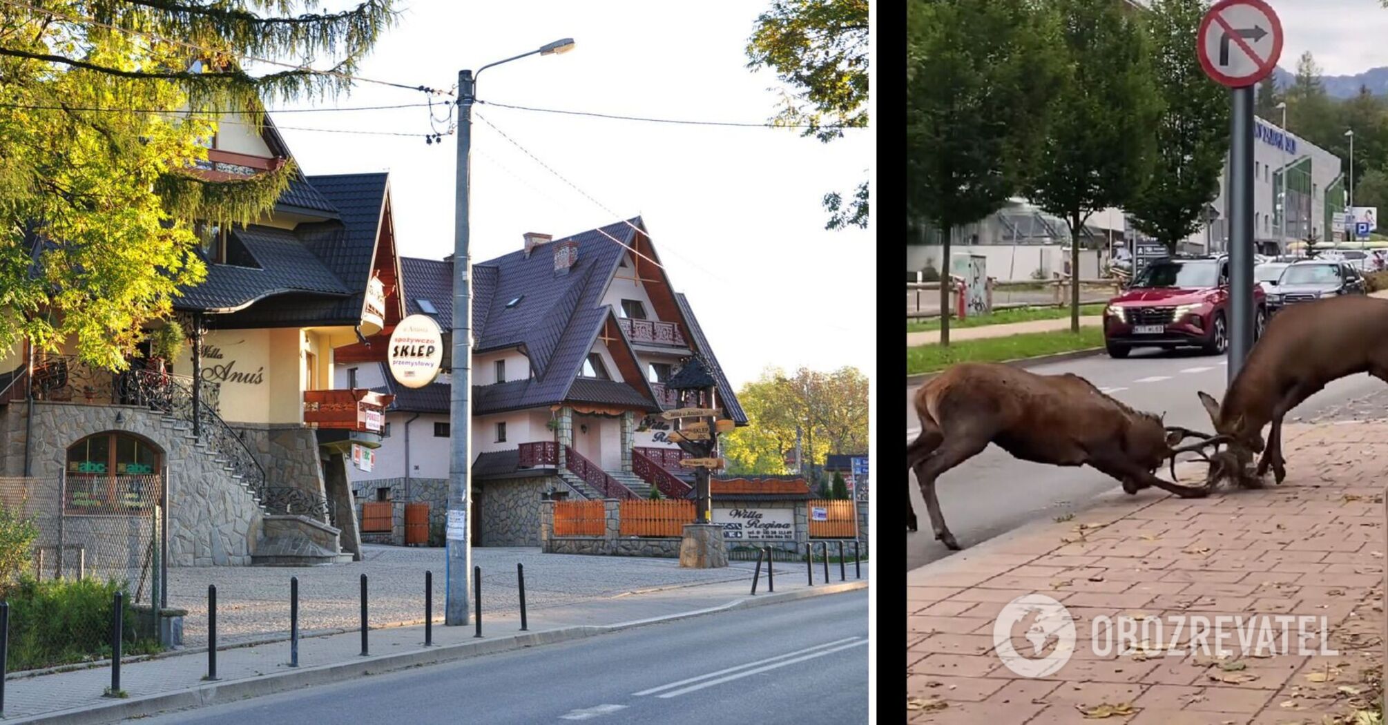
{"type": "MultiPolygon", "coordinates": [[[[1284,450],[1280,486],[1192,500],[1117,493],[909,572],[908,721],[1323,725],[1377,714],[1388,421],[1288,424],[1284,450]],[[992,638],[1002,607],[1029,593],[1063,603],[1080,636],[1065,667],[1035,679],[1008,669],[992,638]],[[1185,633],[1174,656],[1097,656],[1092,619],[1119,614],[1326,617],[1339,654],[1205,657],[1188,653],[1185,633]]],[[[1013,642],[1030,651],[1019,626],[1013,642]]],[[[1319,638],[1307,644],[1320,649],[1319,638]]],[[[1237,636],[1224,646],[1241,649],[1237,636]]]]}

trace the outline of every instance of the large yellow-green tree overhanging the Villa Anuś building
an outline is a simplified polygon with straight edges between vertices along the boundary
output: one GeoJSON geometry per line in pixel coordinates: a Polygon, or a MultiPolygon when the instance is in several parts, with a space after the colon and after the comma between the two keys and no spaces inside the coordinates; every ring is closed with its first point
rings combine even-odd
{"type": "MultiPolygon", "coordinates": [[[[335,94],[393,19],[393,0],[291,15],[293,0],[51,0],[0,12],[0,349],[75,339],[125,367],[140,325],[204,279],[193,224],[247,224],[293,164],[208,182],[219,112],[335,94]],[[42,6],[42,7],[39,7],[42,6]],[[279,12],[280,15],[262,15],[279,12]],[[253,76],[246,57],[289,69],[253,76]],[[330,68],[308,69],[316,58],[330,68]],[[332,72],[321,72],[321,71],[332,72]],[[168,112],[144,112],[167,110],[168,112]]],[[[305,0],[307,10],[316,3],[305,0]]]]}

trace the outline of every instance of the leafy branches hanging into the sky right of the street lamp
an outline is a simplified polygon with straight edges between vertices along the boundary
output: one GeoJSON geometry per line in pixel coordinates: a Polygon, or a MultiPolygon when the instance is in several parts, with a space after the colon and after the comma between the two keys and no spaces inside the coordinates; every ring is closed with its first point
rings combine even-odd
{"type": "MultiPolygon", "coordinates": [[[[772,122],[831,142],[867,125],[867,0],[773,0],[747,43],[748,68],[770,67],[794,89],[772,122]]],[[[824,194],[826,229],[867,228],[867,182],[847,201],[824,194]]]]}

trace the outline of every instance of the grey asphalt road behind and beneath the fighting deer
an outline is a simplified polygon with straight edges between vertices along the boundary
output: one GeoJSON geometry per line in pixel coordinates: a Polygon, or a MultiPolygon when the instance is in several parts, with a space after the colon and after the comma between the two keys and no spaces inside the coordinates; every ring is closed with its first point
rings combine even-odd
{"type": "MultiPolygon", "coordinates": [[[[1097,356],[1035,367],[1031,372],[1042,375],[1073,372],[1134,408],[1166,412],[1169,425],[1213,432],[1209,415],[1195,392],[1205,390],[1217,400],[1224,397],[1228,369],[1224,361],[1224,357],[1202,356],[1195,351],[1138,350],[1127,360],[1097,356]]],[[[1288,422],[1314,419],[1332,411],[1357,412],[1360,417],[1388,415],[1388,406],[1380,404],[1377,397],[1385,390],[1388,386],[1369,375],[1344,378],[1298,406],[1287,419],[1288,422]],[[1373,415],[1374,411],[1378,411],[1377,415],[1373,415]]],[[[906,390],[908,442],[915,439],[920,429],[912,404],[915,393],[916,388],[906,390]]],[[[909,571],[944,558],[951,551],[934,539],[916,476],[908,475],[911,506],[920,519],[920,531],[906,533],[909,571]]],[[[1170,474],[1159,472],[1159,475],[1170,474]]],[[[1094,496],[1115,488],[1117,488],[1116,481],[1092,468],[1062,468],[1017,461],[997,446],[988,446],[980,456],[940,476],[937,496],[949,531],[959,544],[967,549],[1035,518],[1059,517],[1083,508],[1094,496]]],[[[1156,494],[1160,492],[1138,493],[1138,496],[1156,494]]]]}

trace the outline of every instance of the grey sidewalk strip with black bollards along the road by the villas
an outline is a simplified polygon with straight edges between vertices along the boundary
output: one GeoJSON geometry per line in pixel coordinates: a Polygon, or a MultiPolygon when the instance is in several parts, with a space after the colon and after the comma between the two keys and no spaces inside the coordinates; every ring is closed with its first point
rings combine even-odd
{"type": "MultiPolygon", "coordinates": [[[[663,589],[644,594],[637,593],[587,600],[539,611],[529,610],[527,624],[530,635],[523,642],[515,640],[518,636],[525,636],[519,632],[519,615],[516,612],[493,614],[491,607],[502,603],[496,600],[489,601],[484,586],[482,594],[482,632],[484,636],[482,639],[473,638],[475,625],[472,624],[468,626],[444,626],[441,614],[443,600],[439,597],[434,600],[436,624],[433,625],[433,642],[436,646],[430,649],[422,646],[422,625],[372,629],[369,632],[371,657],[361,656],[359,631],[303,638],[298,643],[300,667],[297,669],[289,667],[290,644],[287,640],[222,649],[217,657],[219,682],[215,685],[210,685],[201,679],[207,674],[205,649],[186,651],[153,660],[124,662],[121,665],[121,688],[129,694],[128,700],[114,700],[101,696],[104,688],[111,683],[111,668],[108,665],[72,672],[10,678],[6,682],[4,718],[7,722],[111,722],[122,717],[147,714],[150,708],[143,707],[146,703],[142,703],[142,699],[160,696],[180,699],[172,704],[165,703],[164,707],[208,704],[211,701],[225,701],[314,683],[341,681],[362,674],[379,674],[401,667],[418,667],[419,664],[434,661],[433,658],[447,661],[519,646],[593,636],[613,625],[630,625],[643,619],[697,612],[700,610],[725,607],[741,600],[752,600],[750,603],[755,606],[759,601],[830,593],[833,589],[852,586],[855,582],[856,586],[866,586],[867,583],[867,562],[862,565],[861,581],[855,581],[854,565],[849,562],[845,569],[847,583],[840,583],[838,567],[831,565],[829,586],[823,581],[822,567],[822,564],[816,562],[816,586],[811,588],[806,585],[804,564],[798,567],[795,564],[776,564],[775,594],[766,592],[766,572],[763,569],[755,599],[750,597],[751,582],[748,579],[738,579],[663,589]],[[452,653],[448,653],[450,646],[454,647],[452,653]],[[473,646],[476,650],[469,650],[466,654],[458,651],[459,647],[473,646]],[[298,678],[298,681],[289,681],[289,678],[298,678]],[[190,693],[190,689],[196,690],[190,693]],[[221,696],[218,696],[218,689],[222,689],[221,696]],[[125,712],[108,711],[104,715],[93,711],[93,708],[111,706],[129,707],[132,710],[125,712]]],[[[353,607],[357,606],[355,599],[350,601],[353,607]]]]}

